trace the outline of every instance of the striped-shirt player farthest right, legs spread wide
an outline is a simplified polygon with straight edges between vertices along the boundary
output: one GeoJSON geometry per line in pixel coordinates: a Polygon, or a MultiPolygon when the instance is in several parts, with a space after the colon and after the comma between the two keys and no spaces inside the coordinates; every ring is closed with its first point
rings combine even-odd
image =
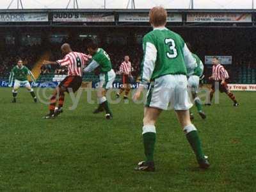
{"type": "Polygon", "coordinates": [[[211,106],[213,94],[215,92],[215,84],[219,86],[221,93],[226,93],[228,97],[234,102],[234,106],[239,106],[236,97],[233,93],[230,92],[227,85],[227,79],[229,78],[227,70],[220,64],[220,61],[217,57],[212,58],[212,76],[209,77],[209,80],[212,81],[211,93],[210,93],[210,102],[205,104],[211,106]]]}

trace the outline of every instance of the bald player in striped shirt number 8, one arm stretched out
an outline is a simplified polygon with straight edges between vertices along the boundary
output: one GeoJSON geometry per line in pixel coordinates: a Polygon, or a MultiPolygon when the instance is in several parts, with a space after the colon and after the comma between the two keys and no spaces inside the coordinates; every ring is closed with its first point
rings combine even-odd
{"type": "Polygon", "coordinates": [[[49,114],[44,118],[54,118],[60,115],[60,113],[63,113],[65,92],[76,92],[79,89],[83,81],[83,68],[90,59],[90,56],[87,56],[86,54],[72,51],[69,44],[63,44],[61,46],[61,51],[65,54],[63,60],[44,61],[43,63],[44,65],[51,64],[58,65],[58,67],[66,66],[68,68],[68,76],[56,87],[50,100],[49,114]],[[58,109],[55,110],[57,101],[58,109]]]}

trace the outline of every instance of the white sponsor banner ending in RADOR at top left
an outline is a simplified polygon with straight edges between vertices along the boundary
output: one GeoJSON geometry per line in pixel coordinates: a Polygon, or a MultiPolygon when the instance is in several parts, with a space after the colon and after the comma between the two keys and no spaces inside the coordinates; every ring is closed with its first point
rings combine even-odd
{"type": "Polygon", "coordinates": [[[0,22],[47,22],[48,13],[0,13],[0,22]]]}

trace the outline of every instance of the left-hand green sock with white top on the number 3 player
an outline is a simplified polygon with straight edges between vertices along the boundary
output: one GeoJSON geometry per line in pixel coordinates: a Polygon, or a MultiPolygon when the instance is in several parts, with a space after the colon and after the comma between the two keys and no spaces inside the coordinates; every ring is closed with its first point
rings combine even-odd
{"type": "Polygon", "coordinates": [[[147,162],[154,161],[154,148],[156,143],[156,127],[154,125],[143,126],[143,144],[147,162]]]}

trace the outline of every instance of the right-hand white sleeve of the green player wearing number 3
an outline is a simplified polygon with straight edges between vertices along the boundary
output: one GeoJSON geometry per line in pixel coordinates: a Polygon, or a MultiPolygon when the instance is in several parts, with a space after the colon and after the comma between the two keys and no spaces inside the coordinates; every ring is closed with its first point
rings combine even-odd
{"type": "Polygon", "coordinates": [[[194,72],[194,69],[197,67],[196,59],[193,57],[192,53],[189,51],[188,46],[186,44],[184,44],[182,51],[184,55],[188,76],[191,76],[191,74],[193,74],[194,72]]]}

